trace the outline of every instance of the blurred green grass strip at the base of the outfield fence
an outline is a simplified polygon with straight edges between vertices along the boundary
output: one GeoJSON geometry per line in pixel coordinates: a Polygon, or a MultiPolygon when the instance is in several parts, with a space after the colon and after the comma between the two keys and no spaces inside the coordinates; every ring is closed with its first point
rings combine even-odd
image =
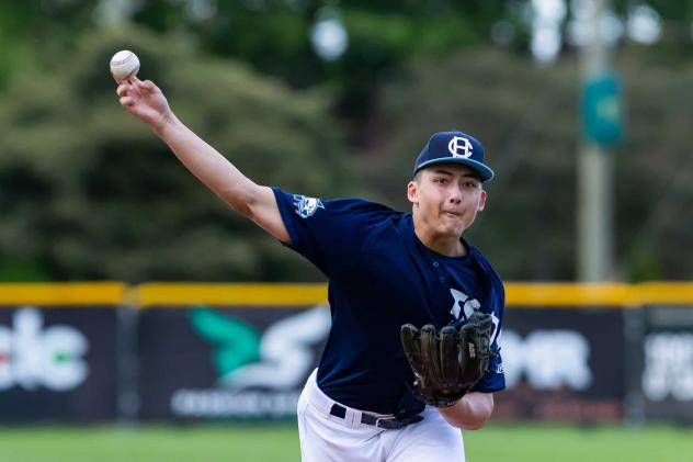
{"type": "MultiPolygon", "coordinates": [[[[691,462],[693,429],[491,425],[468,462],[691,462]]],[[[0,462],[299,461],[295,427],[0,428],[0,462]]],[[[422,461],[425,462],[425,461],[422,461]]]]}

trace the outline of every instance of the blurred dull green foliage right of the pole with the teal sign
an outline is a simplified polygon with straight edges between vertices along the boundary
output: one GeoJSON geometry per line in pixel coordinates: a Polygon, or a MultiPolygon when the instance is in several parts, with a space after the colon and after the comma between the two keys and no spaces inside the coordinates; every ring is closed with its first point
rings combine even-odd
{"type": "Polygon", "coordinates": [[[617,243],[630,280],[693,278],[693,67],[656,66],[637,54],[617,64],[627,137],[615,168],[617,243]]]}

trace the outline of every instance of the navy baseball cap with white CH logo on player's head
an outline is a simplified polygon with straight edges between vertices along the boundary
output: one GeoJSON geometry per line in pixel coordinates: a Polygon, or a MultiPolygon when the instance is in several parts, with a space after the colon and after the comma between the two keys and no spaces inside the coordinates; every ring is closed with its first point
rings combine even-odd
{"type": "Polygon", "coordinates": [[[431,136],[417,157],[413,174],[434,164],[462,164],[489,181],[493,170],[484,164],[484,145],[473,136],[462,132],[440,132],[431,136]]]}

